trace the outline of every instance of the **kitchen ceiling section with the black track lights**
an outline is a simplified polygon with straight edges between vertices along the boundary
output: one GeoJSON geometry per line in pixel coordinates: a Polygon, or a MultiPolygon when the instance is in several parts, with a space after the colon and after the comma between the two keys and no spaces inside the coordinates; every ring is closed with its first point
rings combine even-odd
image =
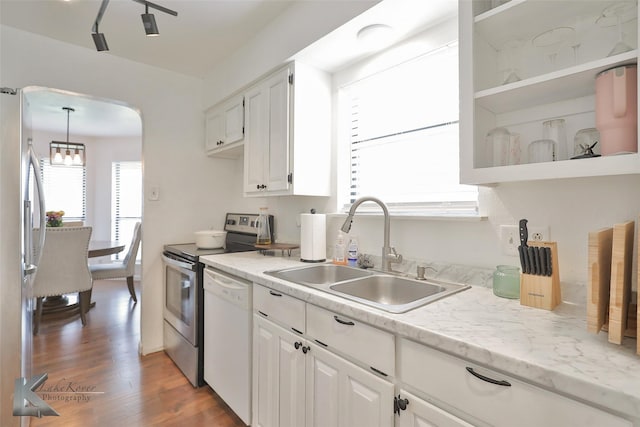
{"type": "MultiPolygon", "coordinates": [[[[110,0],[99,30],[109,51],[144,64],[204,77],[292,4],[291,0],[154,0],[160,36],[146,37],[132,0],[110,0]]],[[[95,50],[91,29],[101,0],[0,0],[0,23],[95,50]]]]}

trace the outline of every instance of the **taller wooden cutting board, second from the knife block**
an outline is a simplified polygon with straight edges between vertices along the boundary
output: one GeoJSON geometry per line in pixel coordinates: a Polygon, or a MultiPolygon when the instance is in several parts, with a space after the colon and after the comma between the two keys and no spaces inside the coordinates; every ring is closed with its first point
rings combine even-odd
{"type": "Polygon", "coordinates": [[[609,296],[609,342],[622,344],[631,300],[634,221],[613,226],[611,294],[609,296]]]}

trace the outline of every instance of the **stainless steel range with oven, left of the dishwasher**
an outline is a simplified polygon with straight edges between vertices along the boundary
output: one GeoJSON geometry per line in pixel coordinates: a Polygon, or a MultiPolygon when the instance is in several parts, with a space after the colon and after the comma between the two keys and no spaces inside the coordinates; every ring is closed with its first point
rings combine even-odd
{"type": "MultiPolygon", "coordinates": [[[[200,249],[195,243],[164,247],[164,350],[194,387],[204,385],[204,264],[200,257],[256,250],[257,220],[257,214],[228,213],[224,248],[200,249]]],[[[273,234],[273,216],[269,222],[273,234]]]]}

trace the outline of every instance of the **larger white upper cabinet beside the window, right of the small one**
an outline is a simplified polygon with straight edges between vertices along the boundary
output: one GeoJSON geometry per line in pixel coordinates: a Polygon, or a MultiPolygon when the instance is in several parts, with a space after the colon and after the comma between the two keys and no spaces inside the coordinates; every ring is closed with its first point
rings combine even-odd
{"type": "Polygon", "coordinates": [[[328,196],[329,75],[289,64],[251,86],[245,104],[245,196],[328,196]]]}

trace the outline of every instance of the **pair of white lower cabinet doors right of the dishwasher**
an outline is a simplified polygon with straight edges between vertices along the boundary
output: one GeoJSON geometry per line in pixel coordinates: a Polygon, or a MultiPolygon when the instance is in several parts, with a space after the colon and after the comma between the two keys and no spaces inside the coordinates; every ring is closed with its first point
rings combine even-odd
{"type": "Polygon", "coordinates": [[[392,427],[393,384],[254,315],[253,425],[392,427]]]}

